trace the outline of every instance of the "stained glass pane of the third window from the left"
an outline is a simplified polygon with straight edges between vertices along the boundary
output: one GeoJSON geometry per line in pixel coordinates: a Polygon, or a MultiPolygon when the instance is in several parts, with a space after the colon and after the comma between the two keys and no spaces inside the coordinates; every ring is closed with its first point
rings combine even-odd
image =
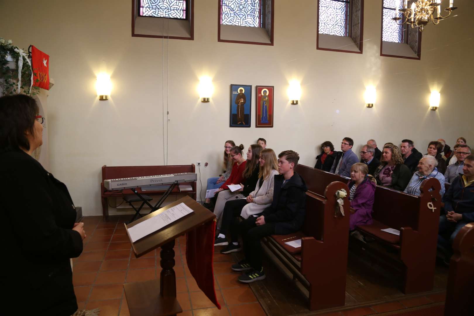
{"type": "Polygon", "coordinates": [[[319,33],[347,36],[349,32],[349,1],[319,0],[319,33]]]}

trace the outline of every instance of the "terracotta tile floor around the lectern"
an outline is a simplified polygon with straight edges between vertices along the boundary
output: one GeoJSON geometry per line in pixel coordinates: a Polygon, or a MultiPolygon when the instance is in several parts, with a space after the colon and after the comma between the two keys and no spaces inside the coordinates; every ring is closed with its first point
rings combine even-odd
{"type": "MultiPolygon", "coordinates": [[[[123,284],[159,278],[159,252],[153,251],[138,259],[132,253],[123,229],[123,222],[129,217],[110,216],[107,223],[100,216],[82,218],[87,238],[81,256],[73,259],[73,283],[80,309],[100,307],[100,316],[128,316],[123,284]]],[[[234,263],[230,255],[216,253],[214,257],[216,294],[222,307],[218,310],[189,272],[184,237],[176,240],[174,251],[181,316],[265,315],[250,287],[238,282],[239,273],[230,270],[234,263]]]]}

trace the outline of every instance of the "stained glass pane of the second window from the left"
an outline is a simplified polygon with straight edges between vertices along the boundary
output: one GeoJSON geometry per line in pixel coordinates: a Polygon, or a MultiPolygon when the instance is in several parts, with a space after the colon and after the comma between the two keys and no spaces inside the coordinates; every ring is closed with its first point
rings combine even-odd
{"type": "Polygon", "coordinates": [[[221,0],[220,24],[262,27],[262,0],[221,0]]]}

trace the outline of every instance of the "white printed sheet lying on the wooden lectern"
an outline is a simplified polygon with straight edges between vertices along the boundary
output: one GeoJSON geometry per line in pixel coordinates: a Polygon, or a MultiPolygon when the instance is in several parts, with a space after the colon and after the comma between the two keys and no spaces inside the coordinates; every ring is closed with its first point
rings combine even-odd
{"type": "Polygon", "coordinates": [[[163,228],[164,226],[177,221],[183,216],[186,216],[194,212],[186,204],[180,203],[172,208],[168,208],[162,213],[148,218],[147,220],[128,228],[128,235],[132,243],[135,243],[138,239],[150,235],[151,233],[156,232],[158,229],[163,228]]]}

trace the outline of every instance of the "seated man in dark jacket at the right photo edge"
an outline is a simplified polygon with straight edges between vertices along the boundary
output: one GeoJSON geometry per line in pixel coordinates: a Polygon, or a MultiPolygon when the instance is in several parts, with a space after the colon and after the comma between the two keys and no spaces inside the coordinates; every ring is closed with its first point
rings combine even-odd
{"type": "Polygon", "coordinates": [[[467,156],[464,175],[457,176],[443,197],[445,214],[439,217],[438,248],[449,259],[451,244],[466,224],[474,222],[474,154],[467,156]],[[447,241],[446,236],[449,236],[447,241]]]}

